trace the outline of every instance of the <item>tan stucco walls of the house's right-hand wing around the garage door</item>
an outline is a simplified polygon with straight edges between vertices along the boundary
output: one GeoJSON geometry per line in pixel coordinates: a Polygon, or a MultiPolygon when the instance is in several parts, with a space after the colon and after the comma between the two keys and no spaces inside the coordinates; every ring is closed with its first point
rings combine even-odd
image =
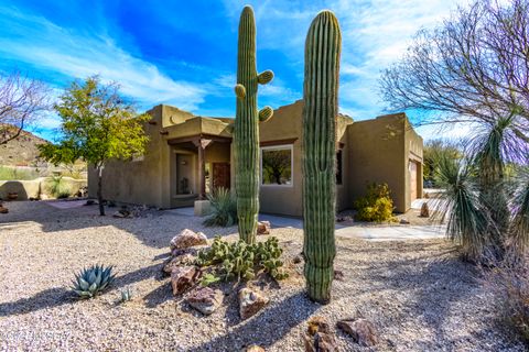
{"type": "Polygon", "coordinates": [[[396,211],[406,212],[411,206],[408,170],[410,147],[418,153],[418,161],[422,162],[422,139],[411,129],[406,114],[355,122],[347,134],[350,147],[350,204],[365,195],[368,183],[387,183],[396,211]]]}

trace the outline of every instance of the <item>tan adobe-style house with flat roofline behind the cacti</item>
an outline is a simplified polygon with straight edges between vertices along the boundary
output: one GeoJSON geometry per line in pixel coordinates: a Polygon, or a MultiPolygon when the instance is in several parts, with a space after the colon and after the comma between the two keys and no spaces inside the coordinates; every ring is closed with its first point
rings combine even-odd
{"type": "MultiPolygon", "coordinates": [[[[262,212],[302,215],[303,101],[281,107],[260,124],[262,212]]],[[[104,170],[104,197],[160,208],[193,206],[216,187],[235,185],[233,119],[196,117],[170,106],[149,111],[145,155],[104,170]]],[[[354,122],[338,117],[337,208],[352,208],[367,183],[387,183],[396,211],[422,195],[422,139],[404,113],[354,122]]],[[[97,177],[88,175],[89,196],[97,177]]]]}

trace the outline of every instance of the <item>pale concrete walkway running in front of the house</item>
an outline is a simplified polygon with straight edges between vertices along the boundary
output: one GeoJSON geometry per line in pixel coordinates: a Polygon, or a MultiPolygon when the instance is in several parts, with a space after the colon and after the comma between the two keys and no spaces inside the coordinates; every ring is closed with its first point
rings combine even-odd
{"type": "MultiPolygon", "coordinates": [[[[180,216],[193,217],[193,208],[168,210],[180,216]]],[[[270,221],[272,229],[294,228],[303,229],[303,220],[299,218],[259,215],[260,221],[270,221]]],[[[343,238],[357,238],[369,241],[404,241],[442,239],[445,235],[445,226],[409,226],[409,224],[366,224],[353,226],[336,224],[336,235],[343,238]]]]}

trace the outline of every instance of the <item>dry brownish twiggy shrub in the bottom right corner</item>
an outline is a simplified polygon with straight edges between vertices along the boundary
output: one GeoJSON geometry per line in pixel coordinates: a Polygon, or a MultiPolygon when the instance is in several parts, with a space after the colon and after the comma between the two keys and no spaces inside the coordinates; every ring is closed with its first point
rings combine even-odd
{"type": "Polygon", "coordinates": [[[485,273],[497,311],[512,332],[529,344],[529,267],[503,263],[485,273]]]}

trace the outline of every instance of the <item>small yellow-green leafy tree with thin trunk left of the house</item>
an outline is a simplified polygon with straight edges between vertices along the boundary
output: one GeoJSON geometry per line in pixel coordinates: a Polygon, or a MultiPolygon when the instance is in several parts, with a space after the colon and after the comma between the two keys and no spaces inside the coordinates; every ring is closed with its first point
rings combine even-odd
{"type": "Polygon", "coordinates": [[[83,160],[98,176],[99,213],[102,205],[102,172],[112,160],[128,161],[144,153],[148,136],[143,123],[148,114],[138,114],[119,95],[116,84],[104,85],[98,77],[74,81],[61,97],[55,110],[62,119],[62,140],[39,146],[41,156],[54,164],[83,160]]]}

